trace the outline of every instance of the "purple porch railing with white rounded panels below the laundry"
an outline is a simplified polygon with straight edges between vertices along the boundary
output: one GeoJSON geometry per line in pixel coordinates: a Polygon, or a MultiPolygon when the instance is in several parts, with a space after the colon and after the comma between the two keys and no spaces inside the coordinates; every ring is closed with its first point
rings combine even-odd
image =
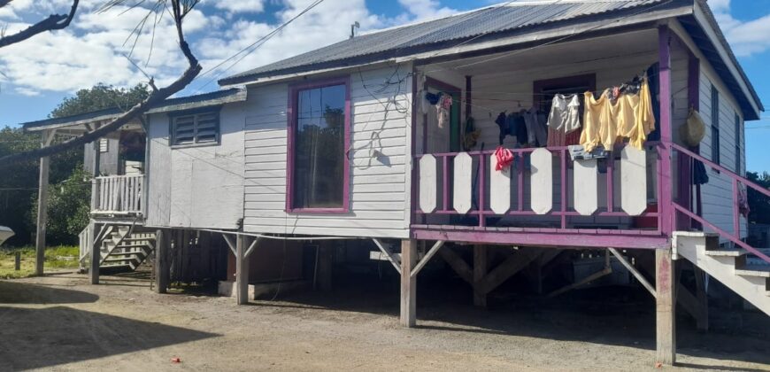
{"type": "MultiPolygon", "coordinates": [[[[615,203],[615,191],[618,190],[618,185],[615,184],[614,180],[614,172],[615,172],[615,159],[614,154],[619,152],[618,150],[622,149],[622,145],[616,148],[616,151],[613,151],[611,158],[612,161],[606,162],[606,192],[604,195],[599,195],[598,198],[600,200],[605,200],[605,205],[600,206],[599,209],[591,214],[591,216],[599,216],[599,217],[635,217],[635,218],[644,218],[647,221],[651,221],[651,219],[655,219],[655,229],[616,229],[612,231],[612,234],[622,234],[623,232],[630,232],[635,231],[639,232],[639,230],[643,230],[643,233],[648,235],[657,235],[660,236],[662,234],[661,229],[661,221],[660,221],[660,213],[658,212],[643,212],[638,215],[630,215],[626,212],[618,210],[616,203],[615,203]]],[[[659,143],[646,143],[645,149],[656,151],[658,153],[658,159],[654,162],[654,164],[648,165],[648,167],[655,167],[656,174],[658,174],[658,180],[661,179],[660,173],[660,161],[659,161],[659,155],[661,151],[661,147],[659,146],[659,143]]],[[[536,148],[527,148],[527,149],[509,149],[512,151],[512,153],[515,155],[514,157],[514,163],[511,167],[511,185],[513,186],[515,183],[515,193],[512,195],[512,199],[516,201],[515,205],[512,205],[512,207],[505,213],[496,213],[492,211],[489,208],[489,184],[488,184],[488,177],[489,177],[489,161],[490,157],[494,156],[495,151],[466,151],[466,152],[443,152],[443,153],[432,153],[429,155],[432,155],[435,157],[437,162],[437,167],[442,169],[442,176],[439,177],[436,182],[438,182],[438,189],[442,190],[441,198],[438,198],[437,205],[434,211],[431,212],[423,212],[420,209],[419,203],[417,200],[420,199],[420,185],[419,182],[413,182],[413,187],[415,188],[414,192],[414,202],[412,203],[412,213],[414,213],[416,219],[415,221],[422,220],[425,222],[425,218],[430,215],[463,215],[463,216],[474,216],[478,218],[477,222],[477,228],[476,229],[484,229],[487,226],[487,219],[490,217],[503,217],[503,216],[557,216],[559,221],[555,223],[555,226],[553,226],[551,229],[553,232],[577,232],[579,229],[574,229],[570,227],[570,217],[578,217],[586,215],[578,213],[574,210],[574,208],[571,208],[569,206],[570,204],[570,198],[569,195],[570,192],[570,185],[573,180],[570,180],[569,178],[569,172],[568,168],[573,167],[573,160],[569,156],[569,152],[566,147],[548,147],[546,150],[551,151],[551,154],[554,158],[558,158],[558,171],[557,167],[553,168],[553,181],[556,182],[556,180],[559,180],[559,186],[558,186],[558,193],[554,192],[555,195],[558,195],[558,199],[554,198],[553,200],[553,207],[551,209],[551,212],[544,213],[544,214],[538,214],[535,213],[530,208],[527,208],[527,199],[525,198],[525,180],[526,180],[526,172],[525,170],[525,163],[527,162],[527,157],[530,157],[531,153],[536,148]],[[453,180],[452,180],[452,171],[453,171],[453,162],[454,159],[458,156],[460,153],[466,153],[470,155],[474,162],[474,175],[473,175],[473,182],[474,182],[474,205],[472,208],[466,212],[466,213],[458,213],[456,210],[453,209],[452,205],[452,193],[453,189],[453,180]],[[557,178],[558,177],[558,178],[557,178]]],[[[420,154],[416,155],[414,157],[415,161],[415,174],[420,174],[420,159],[422,159],[424,156],[428,154],[420,154]]],[[[651,180],[648,180],[651,181],[651,180]]],[[[657,194],[660,195],[660,182],[656,185],[657,194]]],[[[646,189],[645,189],[646,190],[646,189]]],[[[557,191],[557,189],[554,189],[554,191],[557,191]]],[[[530,190],[530,198],[531,198],[532,190],[530,190]]],[[[658,205],[659,207],[659,205],[658,205]]],[[[419,226],[426,226],[424,224],[419,226]]],[[[449,225],[459,225],[459,226],[467,226],[458,224],[458,223],[449,223],[449,225]]],[[[527,229],[522,229],[522,231],[526,231],[527,229]]],[[[544,229],[538,229],[540,231],[543,231],[544,229]]],[[[596,229],[585,229],[587,231],[596,231],[596,229]]]]}

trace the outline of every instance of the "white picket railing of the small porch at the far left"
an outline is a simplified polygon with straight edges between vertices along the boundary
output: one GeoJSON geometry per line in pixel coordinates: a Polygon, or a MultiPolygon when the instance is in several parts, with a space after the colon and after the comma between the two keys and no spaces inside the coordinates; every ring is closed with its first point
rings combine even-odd
{"type": "Polygon", "coordinates": [[[144,174],[96,177],[91,192],[92,214],[144,214],[144,174]]]}

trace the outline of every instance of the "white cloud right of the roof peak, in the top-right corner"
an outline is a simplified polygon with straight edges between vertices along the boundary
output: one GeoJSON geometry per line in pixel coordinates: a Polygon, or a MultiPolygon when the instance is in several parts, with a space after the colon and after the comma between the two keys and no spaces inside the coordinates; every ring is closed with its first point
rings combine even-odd
{"type": "Polygon", "coordinates": [[[708,0],[708,4],[736,55],[746,57],[770,50],[770,14],[743,21],[731,15],[730,0],[708,0]]]}

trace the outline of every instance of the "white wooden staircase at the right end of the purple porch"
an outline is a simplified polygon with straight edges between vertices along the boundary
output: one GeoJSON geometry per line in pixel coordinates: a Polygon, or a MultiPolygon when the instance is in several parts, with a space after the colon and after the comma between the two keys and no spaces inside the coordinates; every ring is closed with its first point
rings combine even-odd
{"type": "MultiPolygon", "coordinates": [[[[684,258],[770,315],[770,264],[743,248],[721,248],[720,236],[675,232],[674,258],[684,258]]],[[[770,253],[770,249],[760,249],[770,253]]]]}

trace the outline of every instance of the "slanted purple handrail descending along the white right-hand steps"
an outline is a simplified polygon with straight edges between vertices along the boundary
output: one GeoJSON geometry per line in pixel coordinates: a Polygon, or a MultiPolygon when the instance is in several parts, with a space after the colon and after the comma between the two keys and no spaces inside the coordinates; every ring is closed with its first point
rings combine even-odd
{"type": "MultiPolygon", "coordinates": [[[[747,187],[751,187],[751,189],[757,190],[758,192],[760,192],[760,193],[766,195],[768,198],[770,198],[770,190],[767,190],[766,188],[758,185],[757,183],[751,182],[750,180],[748,180],[748,179],[746,179],[746,178],[744,178],[744,177],[742,177],[742,176],[740,176],[738,174],[735,174],[733,171],[729,170],[728,168],[722,167],[719,164],[716,164],[716,163],[712,162],[709,159],[705,159],[703,156],[698,155],[697,153],[695,153],[693,151],[689,151],[688,149],[682,147],[679,144],[676,144],[676,143],[668,143],[668,144],[675,151],[679,151],[679,152],[689,156],[690,159],[698,160],[698,161],[704,163],[706,166],[711,167],[712,169],[714,169],[716,171],[719,171],[720,174],[727,175],[729,178],[731,178],[733,180],[733,202],[734,203],[737,200],[736,193],[738,192],[737,186],[738,186],[739,182],[744,184],[744,185],[746,185],[747,187]]],[[[720,229],[719,227],[717,227],[716,225],[712,224],[711,222],[706,221],[705,218],[703,218],[702,216],[699,216],[696,213],[693,213],[688,208],[680,205],[679,203],[677,203],[677,202],[675,202],[673,200],[672,200],[672,206],[674,207],[674,208],[672,208],[672,211],[673,211],[674,215],[677,212],[683,213],[683,214],[687,215],[689,218],[691,218],[691,219],[693,219],[695,221],[700,222],[702,225],[708,226],[710,229],[716,231],[717,234],[719,234],[720,236],[723,236],[723,237],[727,238],[729,241],[733,242],[736,245],[739,245],[741,248],[745,249],[746,251],[751,252],[751,254],[757,256],[760,260],[764,260],[767,263],[770,263],[770,257],[768,257],[764,252],[759,251],[758,249],[752,247],[749,244],[746,244],[745,242],[743,242],[743,240],[741,240],[741,236],[740,236],[741,235],[741,231],[740,231],[739,228],[736,229],[735,234],[730,234],[730,233],[728,233],[728,231],[725,231],[724,229],[720,229]]],[[[734,216],[733,216],[734,221],[737,221],[737,220],[735,220],[736,219],[735,213],[739,213],[737,205],[733,205],[733,213],[734,213],[734,216]]],[[[672,216],[672,217],[674,217],[674,216],[672,216]]],[[[736,227],[738,227],[738,226],[736,226],[736,227]]]]}

